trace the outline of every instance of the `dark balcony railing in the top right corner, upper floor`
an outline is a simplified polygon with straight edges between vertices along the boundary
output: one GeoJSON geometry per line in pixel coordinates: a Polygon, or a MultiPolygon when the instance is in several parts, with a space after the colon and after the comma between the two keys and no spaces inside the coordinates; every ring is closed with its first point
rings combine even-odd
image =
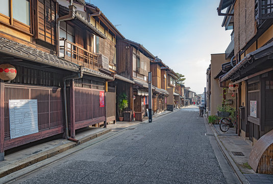
{"type": "Polygon", "coordinates": [[[273,18],[273,0],[256,0],[255,18],[260,26],[263,20],[273,18]]]}

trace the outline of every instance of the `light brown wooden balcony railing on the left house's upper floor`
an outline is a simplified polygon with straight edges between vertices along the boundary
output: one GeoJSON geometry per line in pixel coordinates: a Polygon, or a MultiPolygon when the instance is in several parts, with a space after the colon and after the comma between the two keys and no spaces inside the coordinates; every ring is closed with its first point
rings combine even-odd
{"type": "Polygon", "coordinates": [[[97,55],[64,38],[60,38],[60,57],[78,65],[98,70],[97,55]]]}

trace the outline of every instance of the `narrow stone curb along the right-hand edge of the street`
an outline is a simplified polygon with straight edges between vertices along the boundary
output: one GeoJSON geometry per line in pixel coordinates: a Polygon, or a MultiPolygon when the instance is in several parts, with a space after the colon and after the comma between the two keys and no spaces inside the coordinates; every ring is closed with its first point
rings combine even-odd
{"type": "MultiPolygon", "coordinates": [[[[209,121],[207,118],[205,118],[207,120],[207,123],[209,124],[209,121]]],[[[224,154],[224,156],[226,157],[228,163],[230,164],[231,168],[234,170],[235,174],[237,175],[237,177],[239,178],[240,182],[243,184],[250,184],[249,181],[247,181],[247,179],[245,178],[245,176],[241,173],[241,171],[239,170],[239,168],[237,167],[237,165],[235,164],[234,160],[231,158],[230,154],[228,153],[227,149],[225,148],[225,146],[222,144],[222,142],[219,140],[218,138],[218,134],[215,131],[215,128],[211,125],[210,128],[214,133],[214,137],[216,139],[216,142],[220,148],[220,150],[222,151],[222,153],[224,154]]]]}

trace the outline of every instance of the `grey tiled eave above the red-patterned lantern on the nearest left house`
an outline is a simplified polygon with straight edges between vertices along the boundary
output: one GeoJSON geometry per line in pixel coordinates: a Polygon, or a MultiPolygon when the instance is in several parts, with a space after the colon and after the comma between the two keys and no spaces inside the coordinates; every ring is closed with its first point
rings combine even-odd
{"type": "Polygon", "coordinates": [[[80,70],[77,64],[2,37],[0,37],[0,53],[48,64],[69,71],[78,72],[80,70]]]}

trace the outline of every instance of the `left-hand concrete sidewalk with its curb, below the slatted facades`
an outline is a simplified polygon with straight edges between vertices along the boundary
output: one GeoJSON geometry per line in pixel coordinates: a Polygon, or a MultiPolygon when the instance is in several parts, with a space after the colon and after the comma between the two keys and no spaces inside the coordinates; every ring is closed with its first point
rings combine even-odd
{"type": "MultiPolygon", "coordinates": [[[[153,118],[161,117],[167,113],[170,113],[170,111],[156,114],[153,118]]],[[[108,124],[107,128],[86,127],[76,131],[78,143],[60,137],[55,137],[55,139],[52,137],[51,139],[44,139],[8,150],[5,152],[5,160],[0,161],[0,178],[82,145],[106,133],[112,132],[112,135],[139,123],[147,123],[147,120],[144,119],[143,122],[117,122],[116,124],[108,124]]],[[[0,183],[2,183],[2,179],[0,179],[0,183]]]]}

